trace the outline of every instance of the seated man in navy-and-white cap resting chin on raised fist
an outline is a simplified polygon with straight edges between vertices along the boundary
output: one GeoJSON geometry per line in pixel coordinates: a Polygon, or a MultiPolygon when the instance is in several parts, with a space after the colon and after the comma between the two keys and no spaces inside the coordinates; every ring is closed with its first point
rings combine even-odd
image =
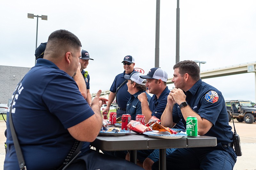
{"type": "MultiPolygon", "coordinates": [[[[145,123],[147,123],[152,116],[161,119],[166,107],[167,96],[170,92],[166,85],[168,79],[167,72],[161,68],[152,68],[148,71],[146,76],[142,75],[140,78],[147,79],[146,87],[148,88],[149,93],[154,94],[149,103],[147,100],[147,93],[143,92],[138,95],[138,99],[141,102],[142,114],[145,116],[145,123]]],[[[181,121],[175,128],[185,131],[181,121]]],[[[170,154],[175,150],[176,148],[168,148],[166,149],[166,154],[170,154]]],[[[126,159],[129,160],[127,156],[126,159]]],[[[143,166],[146,170],[151,169],[153,163],[159,160],[159,149],[139,150],[138,160],[138,165],[143,166]],[[141,165],[141,163],[143,163],[143,165],[141,165]]]]}

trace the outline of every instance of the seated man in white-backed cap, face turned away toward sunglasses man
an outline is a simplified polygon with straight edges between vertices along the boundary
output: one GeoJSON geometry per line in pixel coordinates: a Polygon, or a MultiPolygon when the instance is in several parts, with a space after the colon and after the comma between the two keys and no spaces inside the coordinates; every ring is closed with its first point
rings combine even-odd
{"type": "MultiPolygon", "coordinates": [[[[126,83],[128,87],[128,92],[131,94],[131,98],[128,100],[126,105],[126,114],[131,115],[132,120],[136,120],[136,115],[142,114],[141,112],[141,102],[138,99],[138,95],[146,92],[146,79],[140,78],[143,76],[138,71],[133,71],[131,75],[124,75],[124,78],[128,80],[126,83]]],[[[146,93],[148,97],[148,102],[151,99],[151,96],[146,93]]]]}

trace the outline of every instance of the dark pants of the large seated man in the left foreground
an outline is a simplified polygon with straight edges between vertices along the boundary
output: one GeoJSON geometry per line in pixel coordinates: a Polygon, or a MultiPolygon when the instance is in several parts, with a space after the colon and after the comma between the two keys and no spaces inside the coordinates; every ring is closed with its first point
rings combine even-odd
{"type": "Polygon", "coordinates": [[[68,166],[67,170],[144,170],[136,164],[119,159],[116,157],[108,156],[94,150],[90,150],[85,155],[79,157],[71,165],[68,166]]]}

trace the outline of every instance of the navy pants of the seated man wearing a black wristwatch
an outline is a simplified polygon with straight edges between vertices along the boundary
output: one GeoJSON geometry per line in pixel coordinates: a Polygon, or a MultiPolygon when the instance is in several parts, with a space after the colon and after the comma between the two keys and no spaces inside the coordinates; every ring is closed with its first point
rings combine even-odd
{"type": "MultiPolygon", "coordinates": [[[[232,147],[178,148],[166,156],[166,169],[207,169],[232,170],[236,163],[236,153],[232,147]]],[[[159,169],[159,161],[152,170],[159,169]]]]}

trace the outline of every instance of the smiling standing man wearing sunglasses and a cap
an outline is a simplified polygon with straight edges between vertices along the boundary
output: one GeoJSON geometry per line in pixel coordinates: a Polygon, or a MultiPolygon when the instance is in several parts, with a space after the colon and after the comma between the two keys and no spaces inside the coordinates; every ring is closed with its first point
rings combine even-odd
{"type": "Polygon", "coordinates": [[[124,72],[118,74],[110,87],[110,94],[108,96],[108,104],[107,107],[102,111],[104,112],[109,111],[109,107],[111,103],[114,101],[116,97],[116,117],[120,117],[126,113],[126,104],[127,101],[130,99],[130,93],[128,92],[128,87],[126,85],[127,80],[124,78],[124,75],[130,75],[134,71],[135,61],[131,55],[127,55],[124,57],[122,62],[124,64],[124,72]]]}

